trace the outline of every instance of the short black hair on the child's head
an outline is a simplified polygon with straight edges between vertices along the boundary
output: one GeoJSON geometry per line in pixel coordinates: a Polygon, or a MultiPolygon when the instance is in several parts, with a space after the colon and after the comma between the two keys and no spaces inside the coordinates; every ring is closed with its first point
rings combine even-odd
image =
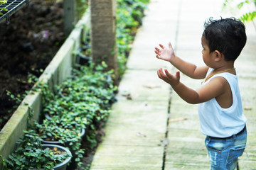
{"type": "Polygon", "coordinates": [[[245,25],[235,18],[209,18],[204,27],[203,36],[208,41],[210,52],[218,50],[226,61],[235,61],[245,47],[245,25]]]}

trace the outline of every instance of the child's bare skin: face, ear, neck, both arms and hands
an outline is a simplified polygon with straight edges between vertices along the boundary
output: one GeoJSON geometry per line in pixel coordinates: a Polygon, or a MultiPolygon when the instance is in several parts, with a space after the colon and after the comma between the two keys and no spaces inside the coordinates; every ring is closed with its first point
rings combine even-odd
{"type": "MultiPolygon", "coordinates": [[[[174,67],[183,72],[183,74],[186,74],[188,77],[193,79],[206,78],[207,81],[206,74],[209,67],[213,68],[214,70],[209,74],[208,77],[220,72],[236,74],[235,69],[233,69],[234,62],[226,61],[223,54],[221,54],[218,50],[210,52],[208,42],[204,37],[202,37],[202,54],[203,61],[206,63],[206,66],[203,67],[197,67],[195,64],[191,64],[177,57],[174,54],[174,49],[171,46],[171,42],[169,42],[167,47],[164,47],[164,45],[161,44],[159,46],[160,48],[155,47],[155,53],[158,59],[170,62],[174,65],[174,67]]],[[[229,108],[232,106],[233,99],[230,86],[228,81],[226,81],[226,79],[223,77],[215,77],[211,79],[208,84],[201,86],[200,89],[194,90],[181,83],[179,71],[175,74],[171,74],[167,69],[164,69],[163,71],[163,69],[160,68],[157,70],[157,75],[160,79],[170,84],[178,96],[188,103],[203,103],[215,98],[222,108],[229,108]]]]}

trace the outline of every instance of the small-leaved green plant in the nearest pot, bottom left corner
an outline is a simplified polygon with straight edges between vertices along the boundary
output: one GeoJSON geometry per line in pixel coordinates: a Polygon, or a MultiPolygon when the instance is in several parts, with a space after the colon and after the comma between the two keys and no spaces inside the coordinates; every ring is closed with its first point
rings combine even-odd
{"type": "Polygon", "coordinates": [[[19,169],[46,169],[50,170],[56,164],[71,157],[68,153],[55,152],[51,149],[43,149],[42,139],[34,130],[24,131],[23,137],[17,141],[18,148],[9,155],[9,159],[3,159],[6,170],[19,169]]]}

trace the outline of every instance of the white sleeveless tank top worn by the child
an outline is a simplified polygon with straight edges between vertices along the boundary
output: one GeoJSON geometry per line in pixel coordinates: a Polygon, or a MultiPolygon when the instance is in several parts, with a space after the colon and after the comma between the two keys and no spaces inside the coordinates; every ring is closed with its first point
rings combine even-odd
{"type": "MultiPolygon", "coordinates": [[[[213,69],[209,69],[206,77],[213,69]]],[[[215,74],[214,77],[223,77],[228,81],[232,91],[233,103],[229,108],[221,108],[215,98],[198,104],[198,115],[203,135],[211,137],[230,137],[245,127],[246,118],[242,113],[242,101],[238,86],[238,77],[228,72],[215,74]]],[[[204,82],[207,84],[208,81],[204,82]]]]}

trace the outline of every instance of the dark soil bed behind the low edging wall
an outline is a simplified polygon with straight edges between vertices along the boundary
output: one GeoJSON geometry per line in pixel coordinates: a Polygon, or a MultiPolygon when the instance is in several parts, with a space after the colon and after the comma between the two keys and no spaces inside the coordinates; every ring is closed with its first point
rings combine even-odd
{"type": "Polygon", "coordinates": [[[31,74],[41,75],[65,38],[62,1],[31,0],[0,23],[0,130],[18,106],[7,91],[26,94],[31,74]]]}

